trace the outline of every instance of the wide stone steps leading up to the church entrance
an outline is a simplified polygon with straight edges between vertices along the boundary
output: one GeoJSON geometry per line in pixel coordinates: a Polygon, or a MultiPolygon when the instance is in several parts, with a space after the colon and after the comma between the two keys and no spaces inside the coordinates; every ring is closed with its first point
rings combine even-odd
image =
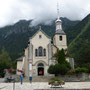
{"type": "MultiPolygon", "coordinates": [[[[33,76],[32,77],[32,82],[49,82],[53,76],[33,76]]],[[[29,82],[29,78],[25,77],[24,82],[29,82]]]]}

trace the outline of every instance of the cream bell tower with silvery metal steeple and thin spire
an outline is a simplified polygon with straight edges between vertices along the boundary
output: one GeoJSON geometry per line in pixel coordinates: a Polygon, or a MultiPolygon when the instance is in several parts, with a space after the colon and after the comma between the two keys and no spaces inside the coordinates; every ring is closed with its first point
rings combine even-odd
{"type": "Polygon", "coordinates": [[[59,17],[59,6],[57,4],[57,20],[56,20],[56,30],[53,37],[53,43],[54,45],[60,50],[60,49],[67,49],[67,38],[66,34],[62,29],[62,21],[59,17]]]}

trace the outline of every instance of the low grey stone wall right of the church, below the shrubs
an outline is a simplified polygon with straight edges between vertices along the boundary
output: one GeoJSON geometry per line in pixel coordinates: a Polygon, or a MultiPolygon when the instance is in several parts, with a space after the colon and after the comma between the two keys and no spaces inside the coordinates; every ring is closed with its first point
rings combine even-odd
{"type": "Polygon", "coordinates": [[[73,81],[76,82],[76,81],[87,81],[88,76],[89,74],[82,73],[82,74],[76,74],[76,75],[64,75],[64,76],[59,75],[58,78],[68,82],[73,82],[73,81]]]}

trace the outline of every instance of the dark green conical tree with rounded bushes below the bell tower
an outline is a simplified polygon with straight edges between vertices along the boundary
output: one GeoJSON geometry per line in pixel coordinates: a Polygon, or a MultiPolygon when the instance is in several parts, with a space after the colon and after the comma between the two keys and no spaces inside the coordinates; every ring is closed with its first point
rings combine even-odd
{"type": "Polygon", "coordinates": [[[67,71],[71,69],[70,63],[68,63],[65,59],[65,53],[64,50],[59,50],[54,57],[56,58],[57,62],[55,65],[51,65],[48,69],[48,73],[50,74],[61,74],[65,75],[67,71]]]}

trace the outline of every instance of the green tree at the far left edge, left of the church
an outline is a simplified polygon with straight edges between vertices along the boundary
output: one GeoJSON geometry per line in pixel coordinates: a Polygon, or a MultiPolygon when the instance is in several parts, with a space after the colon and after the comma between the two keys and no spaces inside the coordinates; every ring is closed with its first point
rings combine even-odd
{"type": "Polygon", "coordinates": [[[4,76],[4,69],[10,69],[11,65],[12,65],[11,58],[3,48],[2,53],[0,55],[0,76],[1,77],[4,76]]]}

